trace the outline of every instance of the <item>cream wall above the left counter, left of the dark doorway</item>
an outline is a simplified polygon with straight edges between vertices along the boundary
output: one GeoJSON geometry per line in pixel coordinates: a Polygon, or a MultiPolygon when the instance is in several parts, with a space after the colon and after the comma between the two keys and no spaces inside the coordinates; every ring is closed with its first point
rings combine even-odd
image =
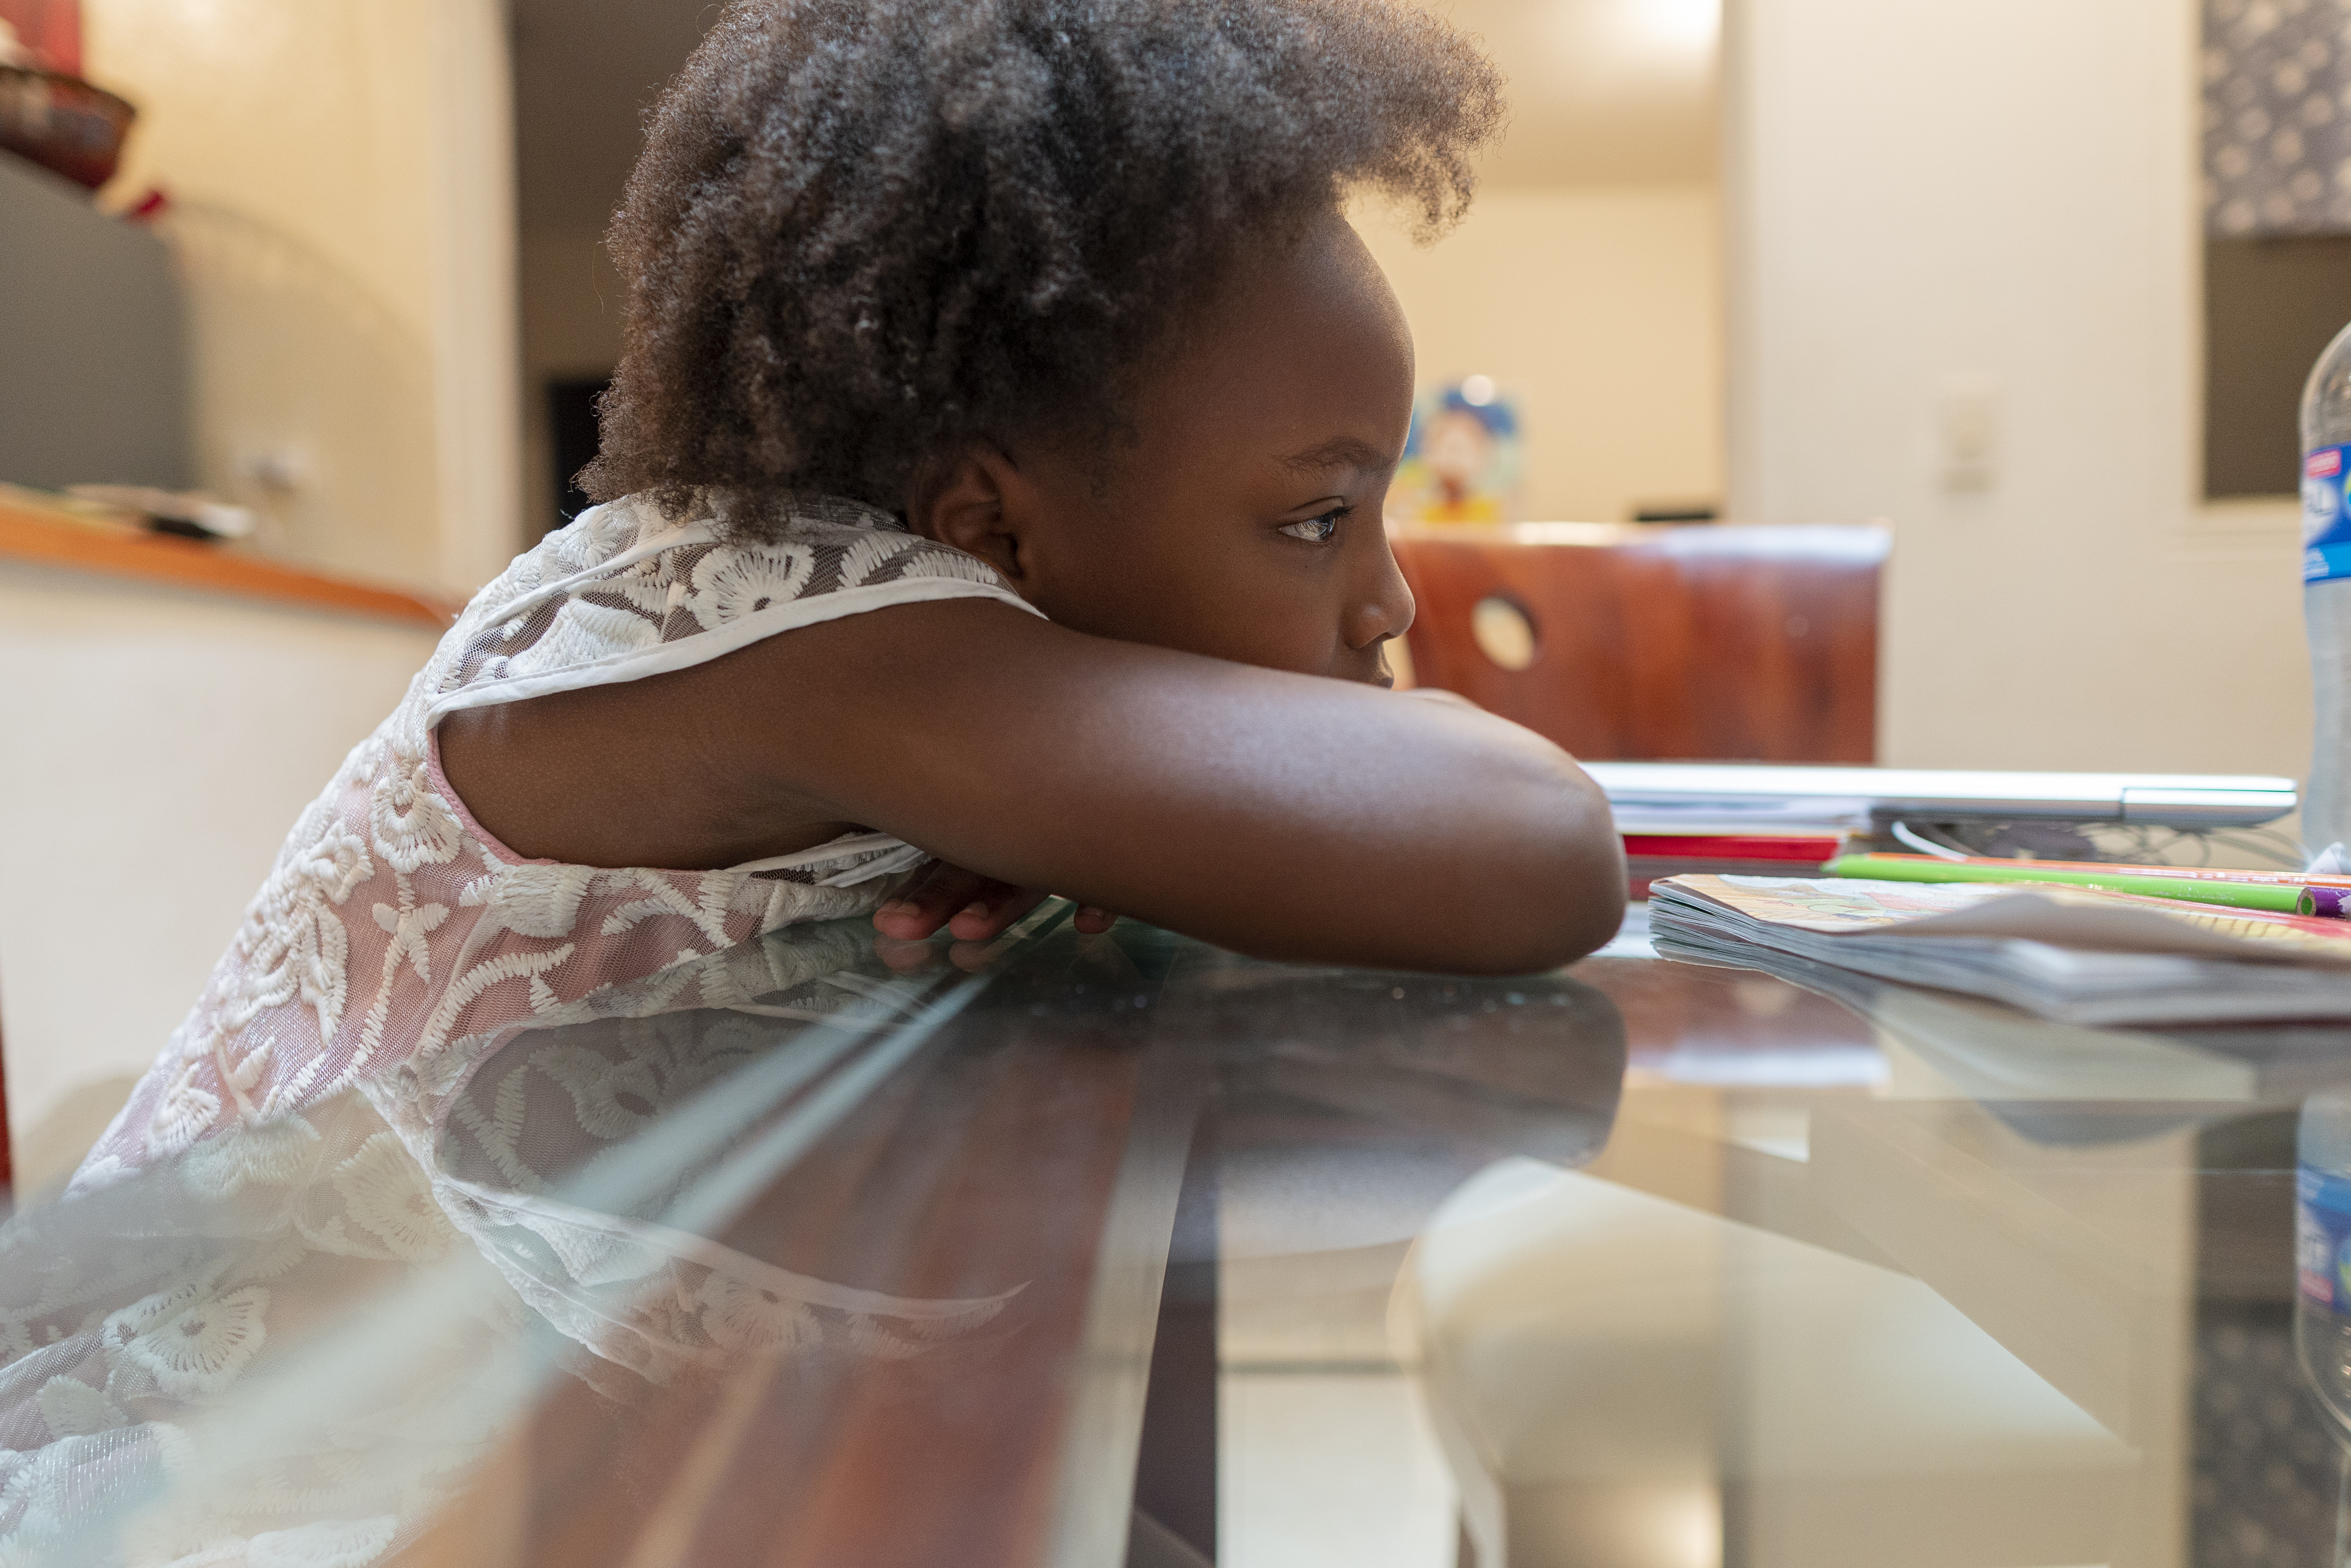
{"type": "Polygon", "coordinates": [[[162,186],[205,484],[282,555],[470,590],[517,548],[513,106],[501,0],[85,0],[162,186]],[[263,461],[292,487],[256,477],[263,461]]]}

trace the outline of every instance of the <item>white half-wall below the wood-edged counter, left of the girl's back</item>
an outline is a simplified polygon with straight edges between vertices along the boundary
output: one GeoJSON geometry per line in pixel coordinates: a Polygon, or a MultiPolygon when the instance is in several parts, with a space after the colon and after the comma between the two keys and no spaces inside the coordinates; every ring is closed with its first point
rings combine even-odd
{"type": "Polygon", "coordinates": [[[433,644],[421,625],[0,559],[0,1041],[19,1147],[78,1086],[146,1070],[294,816],[433,644]]]}

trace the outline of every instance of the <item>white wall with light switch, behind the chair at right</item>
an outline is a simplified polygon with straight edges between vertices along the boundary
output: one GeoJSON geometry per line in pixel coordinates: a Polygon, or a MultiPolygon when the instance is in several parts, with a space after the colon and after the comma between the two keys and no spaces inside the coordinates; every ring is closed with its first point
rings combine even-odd
{"type": "Polygon", "coordinates": [[[2198,501],[2196,63],[2193,0],[1733,5],[1733,515],[1893,520],[1883,762],[2304,766],[2292,512],[2198,501]]]}

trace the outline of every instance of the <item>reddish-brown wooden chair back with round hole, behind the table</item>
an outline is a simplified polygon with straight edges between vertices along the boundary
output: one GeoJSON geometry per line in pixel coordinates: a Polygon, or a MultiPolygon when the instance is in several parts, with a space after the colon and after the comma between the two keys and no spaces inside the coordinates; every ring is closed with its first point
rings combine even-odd
{"type": "Polygon", "coordinates": [[[1876,527],[1404,529],[1422,686],[1592,759],[1876,762],[1876,527]]]}

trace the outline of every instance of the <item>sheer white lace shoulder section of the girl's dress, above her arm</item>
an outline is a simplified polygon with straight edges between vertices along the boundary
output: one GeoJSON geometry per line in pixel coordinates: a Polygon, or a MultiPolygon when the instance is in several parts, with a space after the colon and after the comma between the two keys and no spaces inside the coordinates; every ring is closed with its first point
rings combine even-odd
{"type": "Polygon", "coordinates": [[[987,562],[860,501],[795,498],[771,534],[736,536],[628,496],[555,529],[475,595],[435,658],[430,717],[642,679],[818,621],[964,597],[1030,609],[987,562]]]}

